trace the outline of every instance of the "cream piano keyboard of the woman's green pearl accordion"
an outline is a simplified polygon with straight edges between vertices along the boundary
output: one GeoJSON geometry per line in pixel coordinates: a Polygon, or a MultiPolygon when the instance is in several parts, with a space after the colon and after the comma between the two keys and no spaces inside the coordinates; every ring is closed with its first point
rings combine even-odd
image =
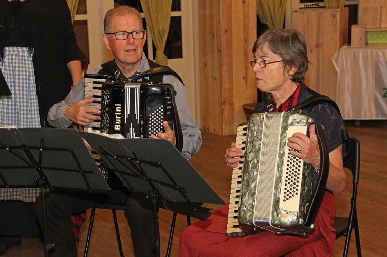
{"type": "MultiPolygon", "coordinates": [[[[242,149],[242,154],[245,154],[246,144],[246,130],[247,124],[238,126],[236,134],[236,147],[242,149]]],[[[231,190],[230,190],[230,202],[229,202],[229,213],[227,219],[226,234],[231,237],[242,236],[243,232],[239,228],[238,223],[238,207],[239,207],[239,195],[241,194],[241,181],[242,181],[242,167],[243,167],[243,156],[242,161],[239,162],[238,167],[232,171],[231,190]]]]}

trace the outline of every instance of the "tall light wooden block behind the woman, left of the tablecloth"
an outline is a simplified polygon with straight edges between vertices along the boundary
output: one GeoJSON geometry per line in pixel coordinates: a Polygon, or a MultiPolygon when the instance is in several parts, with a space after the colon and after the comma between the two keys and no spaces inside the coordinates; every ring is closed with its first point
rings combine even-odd
{"type": "Polygon", "coordinates": [[[293,12],[292,19],[308,44],[306,86],[335,100],[337,71],[331,59],[348,43],[348,8],[300,9],[293,12]]]}

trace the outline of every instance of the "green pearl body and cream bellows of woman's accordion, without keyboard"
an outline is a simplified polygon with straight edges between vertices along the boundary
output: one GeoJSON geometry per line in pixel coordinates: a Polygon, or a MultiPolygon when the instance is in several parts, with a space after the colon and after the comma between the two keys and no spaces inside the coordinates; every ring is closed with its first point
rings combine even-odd
{"type": "Polygon", "coordinates": [[[320,183],[319,173],[286,145],[295,132],[308,135],[311,124],[314,119],[301,112],[251,115],[238,210],[245,234],[314,229],[315,216],[309,212],[312,204],[320,205],[314,201],[316,187],[325,187],[326,181],[320,183]]]}

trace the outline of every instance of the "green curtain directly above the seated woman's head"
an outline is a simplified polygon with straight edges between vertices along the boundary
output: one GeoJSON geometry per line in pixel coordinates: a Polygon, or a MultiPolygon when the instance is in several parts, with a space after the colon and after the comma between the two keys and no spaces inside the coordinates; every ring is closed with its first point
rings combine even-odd
{"type": "Polygon", "coordinates": [[[262,23],[269,25],[271,29],[282,29],[286,0],[256,0],[256,6],[262,23]]]}

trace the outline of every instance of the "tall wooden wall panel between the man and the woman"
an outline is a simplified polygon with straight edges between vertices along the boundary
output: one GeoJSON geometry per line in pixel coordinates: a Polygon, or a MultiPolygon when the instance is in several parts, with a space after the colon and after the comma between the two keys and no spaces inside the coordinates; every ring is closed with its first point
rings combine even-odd
{"type": "Polygon", "coordinates": [[[245,120],[242,105],[256,101],[248,62],[256,40],[255,0],[199,1],[201,129],[232,135],[245,120]]]}

